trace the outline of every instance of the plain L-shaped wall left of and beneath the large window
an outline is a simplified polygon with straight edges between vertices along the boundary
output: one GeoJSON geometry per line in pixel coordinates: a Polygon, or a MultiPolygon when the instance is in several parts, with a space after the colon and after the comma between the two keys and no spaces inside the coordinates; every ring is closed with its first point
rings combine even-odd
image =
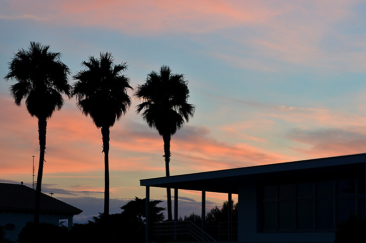
{"type": "Polygon", "coordinates": [[[333,242],[334,232],[260,232],[260,203],[257,182],[246,181],[239,188],[238,241],[242,242],[333,242]]]}

